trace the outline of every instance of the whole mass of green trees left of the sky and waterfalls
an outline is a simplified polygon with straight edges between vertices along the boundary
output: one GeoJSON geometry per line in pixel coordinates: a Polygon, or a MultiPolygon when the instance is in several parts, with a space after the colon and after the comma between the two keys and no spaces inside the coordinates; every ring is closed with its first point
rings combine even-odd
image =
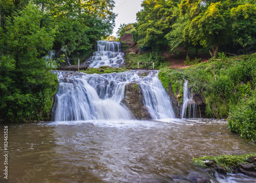
{"type": "Polygon", "coordinates": [[[2,1],[0,4],[0,121],[47,119],[58,86],[52,48],[87,56],[112,33],[114,1],[2,1]]]}

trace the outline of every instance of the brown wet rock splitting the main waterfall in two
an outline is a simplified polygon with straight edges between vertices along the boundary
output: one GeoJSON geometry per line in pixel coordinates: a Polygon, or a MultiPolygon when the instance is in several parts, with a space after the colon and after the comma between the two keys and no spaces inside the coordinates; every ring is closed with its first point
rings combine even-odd
{"type": "Polygon", "coordinates": [[[129,83],[125,86],[122,103],[130,110],[135,119],[152,119],[147,108],[144,106],[142,89],[137,83],[129,83]]]}

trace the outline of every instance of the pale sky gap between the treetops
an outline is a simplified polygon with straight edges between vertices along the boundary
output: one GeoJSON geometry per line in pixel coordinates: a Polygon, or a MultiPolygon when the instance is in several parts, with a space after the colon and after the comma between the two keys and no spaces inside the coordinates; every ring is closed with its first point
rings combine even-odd
{"type": "Polygon", "coordinates": [[[120,27],[120,24],[135,23],[136,13],[141,10],[142,0],[114,0],[115,8],[114,13],[118,14],[116,17],[116,27],[113,35],[116,36],[116,32],[120,27]]]}

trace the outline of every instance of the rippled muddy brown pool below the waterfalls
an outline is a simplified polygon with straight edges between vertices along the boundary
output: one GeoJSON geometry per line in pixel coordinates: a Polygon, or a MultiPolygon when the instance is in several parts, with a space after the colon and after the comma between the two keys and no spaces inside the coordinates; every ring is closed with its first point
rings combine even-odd
{"type": "MultiPolygon", "coordinates": [[[[217,183],[256,182],[241,174],[215,178],[190,164],[203,155],[256,152],[255,145],[230,133],[225,121],[92,120],[8,128],[9,179],[1,173],[1,182],[189,182],[182,177],[191,172],[217,183]],[[170,178],[174,175],[181,178],[170,178]]],[[[1,134],[3,129],[1,124],[1,134]]]]}

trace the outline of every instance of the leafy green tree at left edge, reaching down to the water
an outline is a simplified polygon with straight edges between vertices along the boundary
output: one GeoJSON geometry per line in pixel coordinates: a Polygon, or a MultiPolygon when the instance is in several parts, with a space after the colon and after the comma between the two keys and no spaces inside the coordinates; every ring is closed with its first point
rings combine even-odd
{"type": "Polygon", "coordinates": [[[51,49],[55,28],[40,29],[41,11],[29,4],[6,22],[0,42],[0,116],[6,121],[39,120],[51,109],[57,77],[40,55],[51,49]]]}

